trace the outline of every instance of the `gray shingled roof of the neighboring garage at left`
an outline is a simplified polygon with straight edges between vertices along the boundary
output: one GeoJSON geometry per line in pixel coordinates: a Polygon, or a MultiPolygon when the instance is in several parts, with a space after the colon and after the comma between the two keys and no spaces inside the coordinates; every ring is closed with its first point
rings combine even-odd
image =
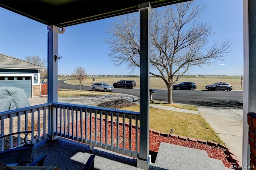
{"type": "Polygon", "coordinates": [[[0,68],[8,68],[8,69],[37,69],[42,70],[45,69],[41,65],[37,65],[34,63],[30,63],[28,61],[24,61],[22,59],[18,59],[15,57],[11,57],[5,54],[0,53],[0,68]]]}

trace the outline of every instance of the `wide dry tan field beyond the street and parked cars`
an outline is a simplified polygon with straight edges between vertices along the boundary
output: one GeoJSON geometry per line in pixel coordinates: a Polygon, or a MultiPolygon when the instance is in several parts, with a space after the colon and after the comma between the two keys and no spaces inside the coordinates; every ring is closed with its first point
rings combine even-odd
{"type": "MultiPolygon", "coordinates": [[[[118,82],[122,79],[128,79],[128,80],[135,80],[136,81],[136,87],[134,88],[140,88],[140,77],[96,77],[93,81],[92,77],[87,77],[84,81],[82,81],[82,85],[85,86],[91,86],[93,83],[96,82],[105,82],[110,85],[113,85],[113,83],[118,82]]],[[[175,84],[181,83],[182,81],[192,81],[196,83],[196,87],[198,90],[205,89],[206,85],[211,85],[216,82],[226,82],[230,83],[233,86],[233,90],[243,90],[243,81],[241,81],[241,77],[238,76],[225,76],[225,77],[180,77],[178,79],[178,82],[175,84]],[[242,82],[242,89],[241,89],[241,82],[242,82]]],[[[75,79],[67,79],[67,82],[70,84],[76,84],[78,85],[78,81],[75,79]]],[[[166,84],[164,81],[159,77],[150,77],[150,88],[151,89],[167,89],[166,84]]]]}

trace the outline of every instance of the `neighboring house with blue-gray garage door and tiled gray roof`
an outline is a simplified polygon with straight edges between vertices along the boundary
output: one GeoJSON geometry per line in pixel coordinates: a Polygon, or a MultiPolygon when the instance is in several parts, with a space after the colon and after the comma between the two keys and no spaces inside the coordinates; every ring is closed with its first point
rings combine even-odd
{"type": "Polygon", "coordinates": [[[23,89],[28,97],[40,96],[40,72],[44,67],[0,53],[0,87],[23,89]]]}

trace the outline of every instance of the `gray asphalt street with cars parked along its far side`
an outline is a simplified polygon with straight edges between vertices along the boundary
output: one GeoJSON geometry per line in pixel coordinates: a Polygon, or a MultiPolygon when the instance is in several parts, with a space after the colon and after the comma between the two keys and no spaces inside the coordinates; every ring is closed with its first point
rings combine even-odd
{"type": "MultiPolygon", "coordinates": [[[[68,84],[65,81],[66,79],[58,80],[60,89],[80,90],[79,85],[68,84]]],[[[82,90],[92,91],[90,86],[82,86],[82,90]]],[[[115,88],[113,93],[140,97],[140,89],[138,88],[115,88]]],[[[172,93],[174,103],[224,109],[243,109],[243,91],[173,90],[172,93]]],[[[167,90],[155,89],[152,99],[167,102],[167,90]]]]}

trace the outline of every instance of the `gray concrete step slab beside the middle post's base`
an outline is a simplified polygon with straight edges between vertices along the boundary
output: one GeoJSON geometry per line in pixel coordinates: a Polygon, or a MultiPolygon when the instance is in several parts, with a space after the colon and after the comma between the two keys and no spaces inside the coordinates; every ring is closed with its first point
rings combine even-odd
{"type": "Polygon", "coordinates": [[[227,170],[221,160],[209,158],[205,150],[161,142],[150,170],[227,170]]]}

